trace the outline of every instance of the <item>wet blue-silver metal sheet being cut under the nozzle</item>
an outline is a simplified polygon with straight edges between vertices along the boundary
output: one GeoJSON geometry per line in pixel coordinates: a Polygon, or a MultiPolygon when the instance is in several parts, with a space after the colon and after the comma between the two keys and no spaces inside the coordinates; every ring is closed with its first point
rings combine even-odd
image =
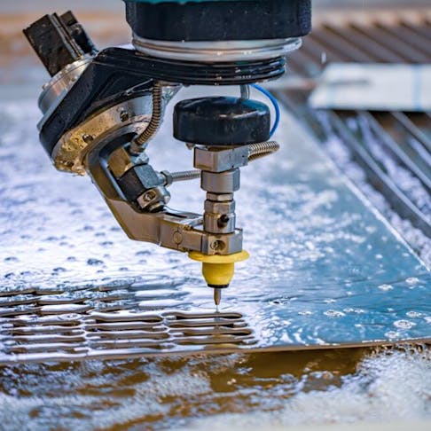
{"type": "MultiPolygon", "coordinates": [[[[217,315],[199,264],[131,242],[87,178],[49,166],[33,100],[2,112],[1,363],[431,340],[429,272],[288,114],[281,152],[243,169],[252,257],[217,315]]],[[[154,164],[189,168],[168,122],[154,164]]],[[[199,184],[172,192],[200,210],[199,184]]]]}

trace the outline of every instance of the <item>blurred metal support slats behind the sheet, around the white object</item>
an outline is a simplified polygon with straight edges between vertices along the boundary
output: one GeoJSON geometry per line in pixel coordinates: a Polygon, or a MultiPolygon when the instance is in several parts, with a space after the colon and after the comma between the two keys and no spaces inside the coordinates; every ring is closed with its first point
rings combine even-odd
{"type": "MultiPolygon", "coordinates": [[[[292,54],[291,68],[314,78],[332,61],[429,64],[430,37],[429,8],[335,12],[317,20],[302,51],[292,54]]],[[[315,111],[307,108],[309,94],[310,90],[288,90],[280,97],[306,119],[320,141],[338,137],[347,145],[352,160],[392,210],[431,238],[431,114],[315,111]],[[407,177],[404,182],[400,173],[407,177]]]]}

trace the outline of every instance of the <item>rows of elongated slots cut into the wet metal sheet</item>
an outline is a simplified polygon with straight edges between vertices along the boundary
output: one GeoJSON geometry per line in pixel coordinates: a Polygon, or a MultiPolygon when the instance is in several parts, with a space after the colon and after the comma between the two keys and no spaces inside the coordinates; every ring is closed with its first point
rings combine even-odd
{"type": "Polygon", "coordinates": [[[0,363],[139,357],[193,345],[241,349],[255,343],[239,312],[142,311],[140,293],[133,285],[1,292],[0,363]]]}

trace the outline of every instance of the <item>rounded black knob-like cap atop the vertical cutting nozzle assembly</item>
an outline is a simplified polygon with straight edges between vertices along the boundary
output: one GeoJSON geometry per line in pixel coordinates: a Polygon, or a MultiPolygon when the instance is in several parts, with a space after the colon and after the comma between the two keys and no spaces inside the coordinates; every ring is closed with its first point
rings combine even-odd
{"type": "Polygon", "coordinates": [[[201,145],[248,145],[270,138],[270,108],[246,98],[192,98],[174,109],[174,137],[201,145]]]}

